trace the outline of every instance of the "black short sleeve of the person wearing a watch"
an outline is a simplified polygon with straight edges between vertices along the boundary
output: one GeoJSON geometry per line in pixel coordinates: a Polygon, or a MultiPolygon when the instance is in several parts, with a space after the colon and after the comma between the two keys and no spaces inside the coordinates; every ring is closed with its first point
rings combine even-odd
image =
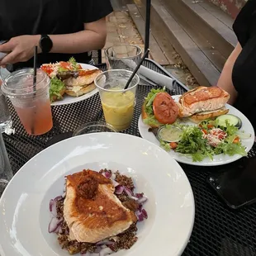
{"type": "Polygon", "coordinates": [[[113,12],[110,0],[80,0],[83,23],[98,21],[113,12]]]}

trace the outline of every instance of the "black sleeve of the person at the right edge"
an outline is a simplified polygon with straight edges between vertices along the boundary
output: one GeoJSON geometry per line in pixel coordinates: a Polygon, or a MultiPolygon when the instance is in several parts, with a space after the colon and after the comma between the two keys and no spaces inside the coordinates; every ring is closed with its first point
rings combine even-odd
{"type": "Polygon", "coordinates": [[[256,0],[248,0],[239,12],[233,24],[233,30],[235,31],[235,35],[242,47],[244,47],[247,40],[249,40],[249,36],[255,28],[255,17],[256,0]]]}

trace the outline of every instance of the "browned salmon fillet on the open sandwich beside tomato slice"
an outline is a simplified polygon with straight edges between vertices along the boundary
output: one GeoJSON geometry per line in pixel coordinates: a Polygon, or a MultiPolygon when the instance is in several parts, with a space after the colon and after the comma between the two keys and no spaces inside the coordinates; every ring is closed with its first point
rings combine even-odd
{"type": "Polygon", "coordinates": [[[180,117],[192,116],[202,111],[215,111],[224,107],[230,94],[218,87],[200,86],[184,93],[177,103],[180,117]]]}

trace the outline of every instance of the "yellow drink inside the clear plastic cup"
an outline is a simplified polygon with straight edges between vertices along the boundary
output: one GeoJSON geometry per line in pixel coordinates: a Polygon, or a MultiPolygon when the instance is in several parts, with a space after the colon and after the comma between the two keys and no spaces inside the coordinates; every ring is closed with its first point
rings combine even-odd
{"type": "Polygon", "coordinates": [[[134,92],[102,92],[102,108],[105,120],[116,130],[129,128],[134,107],[134,92]]]}

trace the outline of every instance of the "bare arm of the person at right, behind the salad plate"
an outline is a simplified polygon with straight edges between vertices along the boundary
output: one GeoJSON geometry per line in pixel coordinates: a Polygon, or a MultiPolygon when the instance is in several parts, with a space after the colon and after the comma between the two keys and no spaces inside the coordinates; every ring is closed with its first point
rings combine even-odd
{"type": "Polygon", "coordinates": [[[223,88],[226,92],[230,93],[229,103],[232,105],[237,97],[237,92],[232,82],[232,71],[235,64],[235,60],[239,56],[242,50],[241,45],[238,43],[235,49],[232,51],[230,57],[226,60],[224,68],[220,74],[217,86],[223,88]]]}

